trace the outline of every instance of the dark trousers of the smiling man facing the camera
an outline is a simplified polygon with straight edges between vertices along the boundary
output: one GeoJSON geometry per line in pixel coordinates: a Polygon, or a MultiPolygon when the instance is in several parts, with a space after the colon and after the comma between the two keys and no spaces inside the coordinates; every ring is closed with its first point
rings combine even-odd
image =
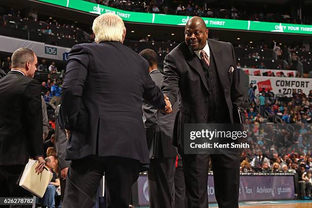
{"type": "Polygon", "coordinates": [[[239,207],[240,156],[238,153],[184,154],[182,160],[188,208],[208,207],[207,182],[210,158],[219,208],[239,207]]]}

